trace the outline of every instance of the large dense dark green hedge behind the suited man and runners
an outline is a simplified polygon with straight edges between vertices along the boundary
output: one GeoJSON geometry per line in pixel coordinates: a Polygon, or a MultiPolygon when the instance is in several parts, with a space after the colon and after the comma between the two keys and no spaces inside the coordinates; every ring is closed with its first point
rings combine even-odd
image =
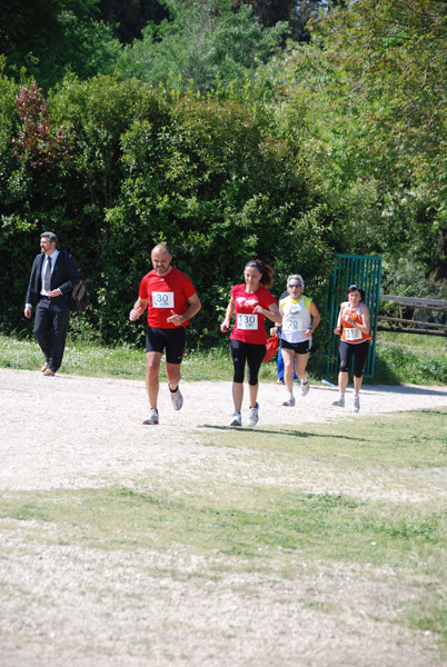
{"type": "Polygon", "coordinates": [[[221,340],[230,287],[252,257],[276,269],[275,293],[300,271],[322,306],[334,257],[329,213],[259,106],[69,77],[48,107],[31,83],[16,88],[23,103],[32,99],[32,122],[23,125],[13,87],[2,86],[0,271],[12,295],[1,306],[2,331],[29,330],[23,299],[43,229],[76,256],[91,298],[86,317],[107,341],[140,336],[127,313],[160,241],[203,303],[191,323],[197,345],[221,340]]]}

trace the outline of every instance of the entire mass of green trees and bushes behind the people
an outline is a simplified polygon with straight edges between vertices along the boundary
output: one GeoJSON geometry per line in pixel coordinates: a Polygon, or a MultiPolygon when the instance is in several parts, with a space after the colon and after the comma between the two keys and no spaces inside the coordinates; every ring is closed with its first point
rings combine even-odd
{"type": "Polygon", "coordinates": [[[89,325],[113,341],[136,338],[127,311],[159,241],[203,301],[197,345],[219,340],[251,257],[274,266],[278,292],[302,273],[319,307],[336,252],[383,253],[388,287],[446,276],[444,2],[277,3],[312,19],[309,43],[282,48],[272,3],[167,0],[166,20],[125,49],[117,6],[101,4],[106,26],[93,0],[47,3],[17,47],[40,7],[20,3],[0,23],[3,330],[29,326],[24,267],[48,228],[82,269],[89,325]],[[51,49],[46,26],[59,30],[51,49]]]}

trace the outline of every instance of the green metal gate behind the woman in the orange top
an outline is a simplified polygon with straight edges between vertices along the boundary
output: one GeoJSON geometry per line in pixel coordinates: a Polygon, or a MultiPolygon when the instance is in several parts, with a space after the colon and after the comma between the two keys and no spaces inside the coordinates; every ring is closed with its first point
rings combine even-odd
{"type": "Polygon", "coordinates": [[[369,346],[369,355],[365,366],[366,378],[374,376],[376,361],[376,332],[377,315],[379,309],[379,293],[381,279],[381,257],[368,257],[361,255],[337,255],[334,267],[332,281],[329,292],[329,346],[327,372],[338,372],[338,345],[340,337],[332,331],[337,325],[340,303],[346,301],[346,290],[350,285],[358,285],[365,290],[365,303],[369,308],[371,317],[372,342],[369,346]]]}

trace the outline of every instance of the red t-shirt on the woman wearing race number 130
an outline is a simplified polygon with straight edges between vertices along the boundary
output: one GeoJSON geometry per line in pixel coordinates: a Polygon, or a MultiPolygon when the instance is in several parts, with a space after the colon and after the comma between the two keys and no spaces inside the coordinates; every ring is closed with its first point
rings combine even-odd
{"type": "Polygon", "coordinates": [[[254,345],[266,345],[266,316],[254,312],[254,310],[256,306],[261,306],[267,310],[271,303],[276,303],[275,297],[262,285],[259,285],[254,292],[248,292],[245,285],[235,285],[231,289],[231,297],[236,306],[236,325],[231,331],[231,338],[254,345]]]}

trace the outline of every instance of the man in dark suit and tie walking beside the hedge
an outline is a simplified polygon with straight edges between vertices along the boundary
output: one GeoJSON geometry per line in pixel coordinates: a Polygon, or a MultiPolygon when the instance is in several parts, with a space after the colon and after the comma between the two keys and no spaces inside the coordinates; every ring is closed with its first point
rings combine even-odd
{"type": "Polygon", "coordinates": [[[34,335],[44,356],[41,371],[46,376],[53,376],[62,364],[70,317],[63,295],[79,282],[73,257],[57,250],[57,242],[52,231],[40,235],[41,252],[32,265],[24,307],[29,319],[36,306],[34,335]]]}

